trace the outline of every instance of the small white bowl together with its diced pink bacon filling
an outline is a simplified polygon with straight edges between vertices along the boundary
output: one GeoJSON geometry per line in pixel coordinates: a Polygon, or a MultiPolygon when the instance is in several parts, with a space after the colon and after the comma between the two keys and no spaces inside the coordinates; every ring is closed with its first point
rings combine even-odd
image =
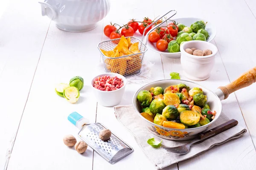
{"type": "Polygon", "coordinates": [[[102,106],[111,107],[121,102],[126,79],[121,74],[104,73],[94,77],[91,84],[97,102],[102,106]]]}

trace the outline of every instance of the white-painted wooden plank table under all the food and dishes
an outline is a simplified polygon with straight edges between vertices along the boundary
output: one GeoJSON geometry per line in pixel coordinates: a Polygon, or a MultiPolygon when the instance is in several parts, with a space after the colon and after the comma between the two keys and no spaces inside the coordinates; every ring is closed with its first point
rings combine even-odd
{"type": "MultiPolygon", "coordinates": [[[[83,33],[56,28],[54,22],[41,17],[40,5],[34,0],[5,2],[0,8],[0,168],[154,170],[133,136],[116,120],[113,108],[97,105],[88,87],[99,72],[101,61],[96,46],[107,40],[103,34],[105,25],[110,21],[127,23],[131,18],[153,19],[170,9],[177,10],[175,17],[205,18],[217,28],[212,41],[218,47],[215,66],[210,78],[200,82],[202,85],[214,90],[256,65],[255,0],[111,0],[108,16],[94,30],[83,33]],[[77,75],[85,82],[79,102],[72,105],[57,96],[54,88],[77,75]],[[134,153],[112,165],[91,148],[84,154],[67,148],[63,136],[77,133],[67,121],[73,111],[90,122],[102,122],[130,144],[134,153]]],[[[141,37],[139,33],[135,36],[141,37]]],[[[165,58],[150,50],[144,59],[154,63],[150,82],[169,79],[172,71],[186,79],[180,59],[165,58]]],[[[134,92],[142,85],[128,84],[120,104],[131,104],[134,92]]],[[[248,129],[244,136],[165,169],[255,169],[255,94],[253,84],[222,101],[223,113],[248,129]]]]}

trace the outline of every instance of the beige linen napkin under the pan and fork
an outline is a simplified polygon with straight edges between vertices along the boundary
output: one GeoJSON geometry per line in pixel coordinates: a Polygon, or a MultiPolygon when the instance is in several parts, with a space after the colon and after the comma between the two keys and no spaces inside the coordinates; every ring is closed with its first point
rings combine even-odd
{"type": "MultiPolygon", "coordinates": [[[[246,133],[246,129],[239,125],[232,127],[222,133],[219,133],[212,138],[205,140],[204,142],[193,145],[190,148],[189,153],[185,155],[179,155],[176,153],[168,152],[164,150],[162,147],[154,148],[151,147],[147,140],[154,137],[156,141],[163,140],[162,144],[168,147],[176,147],[182,144],[186,144],[190,141],[171,141],[167,139],[162,139],[158,136],[150,133],[146,127],[144,126],[143,120],[140,118],[138,113],[135,111],[132,105],[119,105],[114,107],[116,118],[121,122],[128,130],[134,135],[136,142],[142,147],[144,153],[148,158],[153,162],[157,169],[162,169],[171,164],[175,164],[179,161],[183,161],[194,156],[197,156],[215,145],[223,144],[231,139],[236,139],[244,135],[246,133]],[[170,159],[172,158],[172,159],[170,159]]],[[[227,116],[221,114],[218,120],[210,126],[210,129],[221,125],[225,122],[229,121],[227,116]]],[[[193,139],[196,140],[196,139],[193,139]]],[[[191,140],[191,141],[193,141],[191,140]]]]}

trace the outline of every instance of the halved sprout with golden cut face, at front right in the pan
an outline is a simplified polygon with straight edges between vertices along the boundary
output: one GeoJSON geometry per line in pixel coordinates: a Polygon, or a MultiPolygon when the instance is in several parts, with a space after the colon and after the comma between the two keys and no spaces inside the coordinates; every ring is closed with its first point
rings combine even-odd
{"type": "Polygon", "coordinates": [[[194,111],[183,111],[180,113],[180,122],[192,126],[199,122],[200,114],[194,111]]]}

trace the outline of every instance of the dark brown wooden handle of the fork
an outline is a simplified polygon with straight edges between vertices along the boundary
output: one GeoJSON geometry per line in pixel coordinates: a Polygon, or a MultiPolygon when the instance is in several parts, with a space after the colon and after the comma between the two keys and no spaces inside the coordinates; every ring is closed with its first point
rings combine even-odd
{"type": "Polygon", "coordinates": [[[228,121],[226,123],[223,123],[223,124],[221,124],[221,125],[219,125],[217,127],[214,127],[213,129],[208,130],[208,131],[206,131],[204,133],[201,133],[199,135],[199,138],[201,140],[203,140],[203,139],[205,140],[205,139],[211,138],[212,136],[215,136],[215,135],[217,135],[217,134],[219,134],[221,132],[224,132],[225,130],[228,130],[231,127],[236,126],[237,124],[238,124],[237,120],[231,119],[230,121],[228,121]]]}

